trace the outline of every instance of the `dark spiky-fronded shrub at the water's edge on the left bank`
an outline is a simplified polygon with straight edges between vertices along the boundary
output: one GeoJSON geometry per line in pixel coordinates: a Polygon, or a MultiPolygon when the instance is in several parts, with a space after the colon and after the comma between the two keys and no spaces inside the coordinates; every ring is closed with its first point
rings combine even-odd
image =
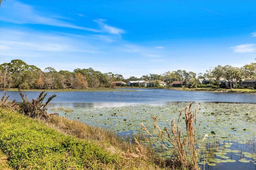
{"type": "Polygon", "coordinates": [[[31,101],[28,101],[28,96],[24,97],[21,90],[19,90],[19,94],[22,98],[22,103],[20,103],[19,106],[19,112],[29,117],[38,117],[40,119],[46,119],[48,117],[46,106],[54,97],[56,97],[55,94],[50,96],[44,104],[44,98],[47,95],[47,93],[44,94],[44,91],[40,93],[38,98],[32,99],[31,101]]]}

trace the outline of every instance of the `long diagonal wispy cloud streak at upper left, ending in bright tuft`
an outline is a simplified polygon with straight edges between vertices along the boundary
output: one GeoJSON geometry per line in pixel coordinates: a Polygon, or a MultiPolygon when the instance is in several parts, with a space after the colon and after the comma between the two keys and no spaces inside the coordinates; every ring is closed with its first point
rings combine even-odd
{"type": "MultiPolygon", "coordinates": [[[[2,14],[0,16],[1,21],[7,21],[16,24],[41,24],[41,25],[51,25],[56,27],[67,27],[73,29],[80,29],[85,31],[92,31],[96,33],[109,33],[112,35],[121,35],[125,33],[124,30],[110,26],[106,24],[104,19],[96,19],[94,22],[98,23],[100,29],[88,28],[73,23],[66,22],[69,18],[64,18],[62,16],[57,16],[54,14],[48,14],[46,12],[36,11],[32,6],[23,4],[18,1],[11,1],[10,5],[1,7],[2,14]],[[10,13],[10,11],[12,11],[10,13]],[[8,17],[7,17],[8,15],[8,17]],[[6,17],[5,17],[6,16],[6,17]]],[[[77,14],[80,17],[84,17],[83,14],[77,14]]]]}

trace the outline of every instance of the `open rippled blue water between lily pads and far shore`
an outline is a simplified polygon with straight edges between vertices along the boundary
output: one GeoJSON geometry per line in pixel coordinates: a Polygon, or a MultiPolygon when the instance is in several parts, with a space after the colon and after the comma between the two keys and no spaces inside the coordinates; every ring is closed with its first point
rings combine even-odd
{"type": "MultiPolygon", "coordinates": [[[[4,92],[0,91],[2,96],[4,92]]],[[[29,99],[36,98],[40,92],[24,92],[29,99]]],[[[70,107],[127,106],[131,104],[166,105],[169,102],[228,102],[256,104],[255,94],[232,94],[212,92],[192,92],[168,89],[138,89],[114,92],[48,92],[56,94],[52,104],[70,107]]],[[[21,102],[18,92],[7,92],[9,100],[21,102]]]]}

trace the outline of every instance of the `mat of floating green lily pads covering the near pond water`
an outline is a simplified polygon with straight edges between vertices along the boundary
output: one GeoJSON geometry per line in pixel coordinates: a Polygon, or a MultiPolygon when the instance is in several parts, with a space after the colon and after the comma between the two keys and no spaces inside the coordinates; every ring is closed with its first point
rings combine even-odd
{"type": "MultiPolygon", "coordinates": [[[[121,135],[131,135],[141,132],[141,122],[146,127],[150,127],[152,125],[150,117],[154,115],[158,119],[159,126],[164,130],[166,117],[175,117],[177,120],[180,108],[184,108],[186,105],[186,102],[171,102],[164,106],[137,104],[122,107],[73,107],[72,113],[66,113],[66,115],[64,111],[58,113],[70,119],[80,117],[79,121],[96,127],[106,127],[121,135]]],[[[246,156],[249,154],[242,154],[242,152],[250,152],[253,158],[248,159],[251,162],[256,160],[256,156],[254,156],[256,152],[256,104],[201,102],[200,104],[193,103],[193,107],[198,108],[197,121],[201,123],[198,134],[208,133],[208,143],[212,143],[213,147],[217,145],[216,149],[212,150],[212,154],[209,153],[209,156],[225,159],[232,163],[240,160],[239,156],[248,158],[246,156]],[[228,156],[228,158],[216,155],[219,152],[223,154],[226,152],[227,154],[224,156],[228,156]]],[[[152,131],[152,129],[149,130],[152,131]]],[[[202,158],[200,159],[202,160],[202,158]]]]}

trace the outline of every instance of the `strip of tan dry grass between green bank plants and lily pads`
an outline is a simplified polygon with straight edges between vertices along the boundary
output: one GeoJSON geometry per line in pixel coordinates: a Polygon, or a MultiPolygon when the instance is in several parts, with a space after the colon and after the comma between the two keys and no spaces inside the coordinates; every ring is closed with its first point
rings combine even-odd
{"type": "Polygon", "coordinates": [[[143,134],[121,137],[108,129],[86,125],[77,120],[70,120],[55,115],[48,117],[46,123],[48,126],[58,129],[58,131],[67,135],[73,135],[80,139],[94,140],[101,147],[114,153],[121,150],[122,154],[128,157],[154,156],[154,149],[140,142],[145,139],[143,134]]]}

